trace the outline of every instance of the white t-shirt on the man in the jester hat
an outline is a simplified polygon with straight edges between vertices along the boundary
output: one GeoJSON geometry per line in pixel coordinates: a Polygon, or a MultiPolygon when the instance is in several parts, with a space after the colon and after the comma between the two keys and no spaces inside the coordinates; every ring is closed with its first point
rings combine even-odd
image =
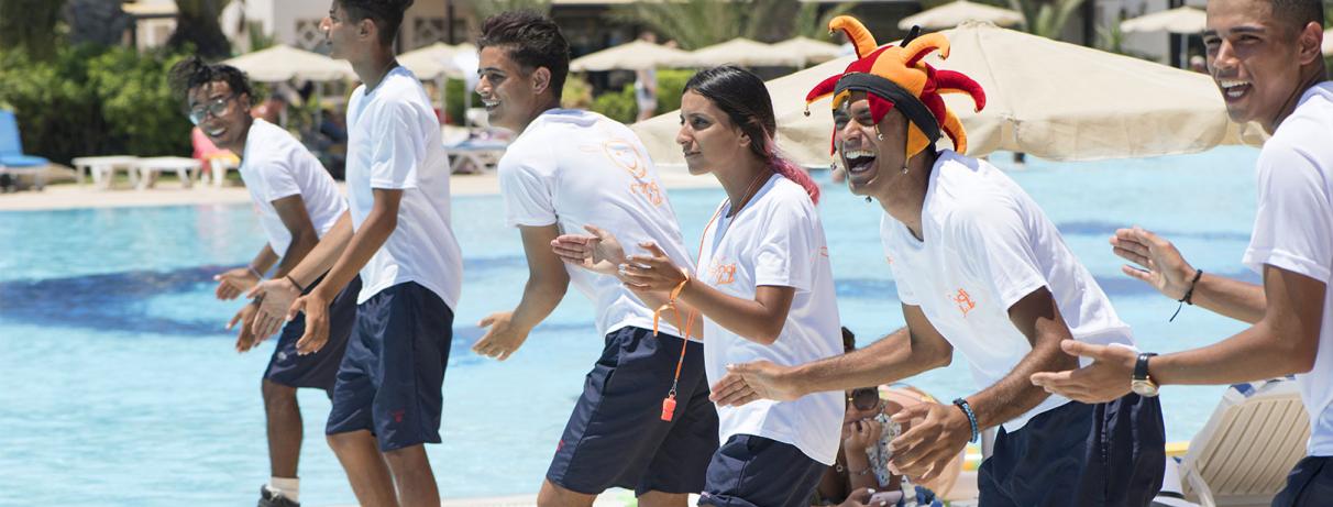
{"type": "MultiPolygon", "coordinates": [[[[978,387],[993,386],[1032,352],[1009,320],[1009,307],[1041,287],[1056,299],[1074,339],[1133,346],[1129,326],[1056,225],[994,165],[942,151],[921,207],[921,235],[924,241],[888,213],[880,220],[898,299],[921,307],[962,352],[978,387]]],[[[1004,428],[1018,431],[1068,402],[1052,395],[1004,428]]]]}

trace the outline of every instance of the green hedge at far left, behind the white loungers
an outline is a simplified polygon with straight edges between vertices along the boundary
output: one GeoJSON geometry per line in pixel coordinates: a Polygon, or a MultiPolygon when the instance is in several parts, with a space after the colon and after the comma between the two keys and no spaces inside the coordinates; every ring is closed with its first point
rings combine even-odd
{"type": "Polygon", "coordinates": [[[51,61],[0,53],[0,108],[13,109],[24,152],[76,156],[191,153],[189,120],[167,71],[180,56],[121,47],[61,47],[51,61]]]}

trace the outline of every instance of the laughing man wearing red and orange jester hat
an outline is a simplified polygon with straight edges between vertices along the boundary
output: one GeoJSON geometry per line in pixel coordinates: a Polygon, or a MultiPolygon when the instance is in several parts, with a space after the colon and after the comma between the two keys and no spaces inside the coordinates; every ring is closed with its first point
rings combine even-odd
{"type": "Polygon", "coordinates": [[[884,209],[880,237],[906,327],[802,366],[736,364],[713,399],[744,404],[892,383],[948,366],[957,351],[980,391],[898,412],[894,420],[912,424],[889,446],[896,471],[929,480],[998,427],[978,470],[981,506],[1149,504],[1165,468],[1158,400],[1129,394],[1085,404],[1028,380],[1077,364],[1061,340],[1133,348],[1134,339],[1037,203],[964,155],[966,133],[941,95],[966,93],[980,111],[981,87],[924,61],[949,56],[942,33],[913,29],[878,47],[856,19],[836,17],[829,28],[848,35],[858,59],[806,100],[832,96],[832,149],[848,187],[884,209]],[[936,147],[941,135],[953,149],[936,147]]]}

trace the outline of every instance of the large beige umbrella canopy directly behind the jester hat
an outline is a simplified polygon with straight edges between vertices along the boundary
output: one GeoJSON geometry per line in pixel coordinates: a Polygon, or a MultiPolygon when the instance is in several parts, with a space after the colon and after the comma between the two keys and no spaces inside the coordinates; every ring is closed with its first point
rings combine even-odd
{"type": "MultiPolygon", "coordinates": [[[[986,23],[944,32],[952,49],[936,68],[962,72],[986,92],[986,108],[945,95],[968,133],[968,155],[1021,151],[1050,160],[1098,160],[1193,153],[1237,144],[1221,93],[1206,75],[1066,44],[986,23]]],[[[828,165],[833,115],[805,95],[841,73],[854,56],[768,81],[777,115],[777,144],[804,165],[828,165]]],[[[633,125],[659,163],[682,163],[673,141],[678,112],[633,125]]],[[[948,145],[948,137],[941,145],[948,145]]]]}

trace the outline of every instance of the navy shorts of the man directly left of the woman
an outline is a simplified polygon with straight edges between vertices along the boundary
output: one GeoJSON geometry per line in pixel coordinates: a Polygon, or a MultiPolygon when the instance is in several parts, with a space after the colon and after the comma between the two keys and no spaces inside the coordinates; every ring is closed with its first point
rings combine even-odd
{"type": "Polygon", "coordinates": [[[661,420],[681,339],[624,327],[607,335],[556,444],[547,479],[596,495],[609,487],[669,494],[704,490],[704,470],[717,450],[717,411],[708,400],[704,346],[690,342],[676,388],[676,412],[661,420]]]}

